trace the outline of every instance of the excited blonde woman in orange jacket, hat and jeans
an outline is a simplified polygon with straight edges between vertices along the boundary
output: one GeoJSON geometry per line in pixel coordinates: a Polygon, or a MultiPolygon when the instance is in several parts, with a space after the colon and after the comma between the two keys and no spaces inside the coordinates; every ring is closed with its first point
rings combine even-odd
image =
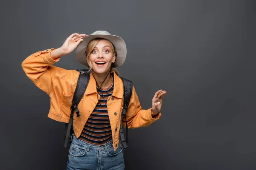
{"type": "MultiPolygon", "coordinates": [[[[68,170],[123,170],[122,144],[119,127],[122,113],[123,85],[115,69],[126,57],[126,45],[122,38],[107,31],[91,35],[72,34],[57,49],[38,51],[27,57],[22,67],[27,77],[50,97],[48,117],[68,122],[73,93],[79,72],[53,66],[60,57],[77,47],[76,59],[90,68],[90,80],[79,102],[79,117],[74,114],[74,135],[67,161],[68,170]]],[[[126,112],[128,128],[145,127],[159,119],[162,97],[159,90],[152,99],[152,108],[143,110],[133,87],[126,112]]]]}

